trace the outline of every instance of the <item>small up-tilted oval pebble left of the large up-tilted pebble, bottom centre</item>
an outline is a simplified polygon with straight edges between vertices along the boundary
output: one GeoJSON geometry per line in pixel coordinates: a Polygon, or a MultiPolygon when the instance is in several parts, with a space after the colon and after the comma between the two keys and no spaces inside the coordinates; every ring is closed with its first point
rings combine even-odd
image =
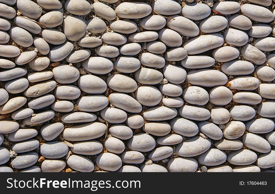
{"type": "Polygon", "coordinates": [[[170,157],[173,154],[173,152],[174,151],[172,147],[169,147],[169,146],[158,147],[152,150],[148,154],[148,158],[151,159],[152,161],[160,161],[170,157]]]}

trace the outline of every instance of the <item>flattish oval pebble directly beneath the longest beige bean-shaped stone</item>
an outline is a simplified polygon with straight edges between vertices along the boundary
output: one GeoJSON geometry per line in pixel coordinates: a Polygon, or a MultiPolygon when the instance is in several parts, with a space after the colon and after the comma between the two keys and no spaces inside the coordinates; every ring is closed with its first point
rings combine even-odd
{"type": "Polygon", "coordinates": [[[96,155],[102,152],[103,145],[98,141],[76,142],[70,149],[75,154],[96,155]]]}

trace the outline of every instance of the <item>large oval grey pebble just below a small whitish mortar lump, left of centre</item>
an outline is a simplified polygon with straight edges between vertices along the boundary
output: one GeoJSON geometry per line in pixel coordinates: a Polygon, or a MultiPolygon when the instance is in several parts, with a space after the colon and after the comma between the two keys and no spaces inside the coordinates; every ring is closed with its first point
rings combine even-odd
{"type": "Polygon", "coordinates": [[[83,92],[87,92],[89,94],[101,94],[107,89],[107,84],[103,79],[90,74],[80,76],[77,83],[83,92]]]}

